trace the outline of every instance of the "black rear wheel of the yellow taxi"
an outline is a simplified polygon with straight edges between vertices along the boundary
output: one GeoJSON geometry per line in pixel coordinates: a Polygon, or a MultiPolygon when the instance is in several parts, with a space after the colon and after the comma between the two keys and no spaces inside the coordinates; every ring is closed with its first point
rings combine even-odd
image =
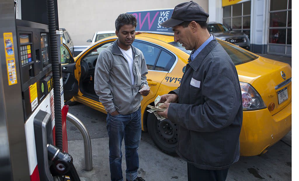
{"type": "Polygon", "coordinates": [[[154,114],[147,115],[147,129],[155,145],[164,153],[175,155],[178,141],[177,124],[169,119],[158,120],[154,114]]]}

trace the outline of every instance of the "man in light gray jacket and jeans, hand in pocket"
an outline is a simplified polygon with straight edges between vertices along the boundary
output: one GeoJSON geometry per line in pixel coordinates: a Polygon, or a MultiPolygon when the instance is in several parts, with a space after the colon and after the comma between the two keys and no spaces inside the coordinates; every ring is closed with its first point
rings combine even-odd
{"type": "Polygon", "coordinates": [[[126,180],[141,181],[138,147],[141,138],[142,96],[149,94],[147,65],[140,50],[132,43],[137,20],[131,14],[120,14],[115,21],[118,39],[104,49],[97,59],[94,90],[107,111],[109,135],[109,163],[112,181],[122,181],[121,143],[126,149],[126,180]]]}

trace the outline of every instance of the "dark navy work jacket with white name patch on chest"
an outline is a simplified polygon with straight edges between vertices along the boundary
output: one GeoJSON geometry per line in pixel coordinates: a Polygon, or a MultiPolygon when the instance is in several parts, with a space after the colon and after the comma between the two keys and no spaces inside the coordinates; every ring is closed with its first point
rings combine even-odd
{"type": "Polygon", "coordinates": [[[222,170],[237,162],[241,88],[236,67],[215,36],[186,65],[181,86],[170,93],[179,95],[179,103],[170,103],[167,114],[179,124],[179,156],[204,170],[222,170]]]}

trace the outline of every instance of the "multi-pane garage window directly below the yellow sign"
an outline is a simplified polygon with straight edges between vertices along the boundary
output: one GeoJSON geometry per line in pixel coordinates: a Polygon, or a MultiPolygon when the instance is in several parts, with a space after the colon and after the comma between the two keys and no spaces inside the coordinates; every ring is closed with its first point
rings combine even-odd
{"type": "MultiPolygon", "coordinates": [[[[250,36],[251,1],[223,7],[223,24],[250,36]]],[[[250,37],[249,37],[250,38],[250,37]]]]}

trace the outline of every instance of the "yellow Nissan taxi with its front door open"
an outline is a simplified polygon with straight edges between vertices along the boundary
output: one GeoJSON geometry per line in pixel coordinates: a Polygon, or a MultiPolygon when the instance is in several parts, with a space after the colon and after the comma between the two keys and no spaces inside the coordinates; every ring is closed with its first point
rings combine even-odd
{"type": "MultiPolygon", "coordinates": [[[[101,39],[62,64],[65,100],[77,101],[100,112],[105,108],[94,92],[94,69],[98,54],[117,39],[101,39]]],[[[217,39],[234,62],[239,75],[243,101],[243,124],[240,134],[242,156],[265,153],[291,130],[292,77],[289,64],[267,59],[231,43],[217,39]]],[[[141,102],[142,130],[148,131],[155,145],[174,154],[177,125],[168,119],[159,121],[147,112],[158,95],[180,86],[191,51],[174,42],[173,35],[139,33],[133,46],[145,57],[147,81],[151,92],[141,102]]],[[[65,47],[67,49],[67,47],[65,47]]],[[[65,51],[65,54],[70,54],[65,51]]]]}

